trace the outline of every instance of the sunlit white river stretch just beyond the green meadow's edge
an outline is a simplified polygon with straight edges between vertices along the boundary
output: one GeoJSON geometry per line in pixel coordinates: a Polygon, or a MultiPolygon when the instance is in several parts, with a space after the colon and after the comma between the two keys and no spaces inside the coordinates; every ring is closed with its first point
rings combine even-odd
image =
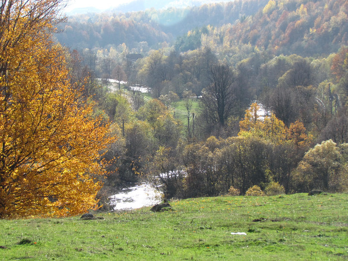
{"type": "Polygon", "coordinates": [[[117,189],[109,199],[113,210],[131,210],[158,204],[162,201],[162,193],[146,182],[130,183],[117,189]]]}

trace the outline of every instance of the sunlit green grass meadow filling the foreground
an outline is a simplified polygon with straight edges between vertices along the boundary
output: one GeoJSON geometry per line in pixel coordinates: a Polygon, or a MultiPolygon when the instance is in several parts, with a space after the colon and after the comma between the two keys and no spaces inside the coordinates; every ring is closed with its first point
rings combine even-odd
{"type": "Polygon", "coordinates": [[[97,213],[103,220],[0,220],[0,260],[348,260],[348,194],[171,205],[97,213]]]}

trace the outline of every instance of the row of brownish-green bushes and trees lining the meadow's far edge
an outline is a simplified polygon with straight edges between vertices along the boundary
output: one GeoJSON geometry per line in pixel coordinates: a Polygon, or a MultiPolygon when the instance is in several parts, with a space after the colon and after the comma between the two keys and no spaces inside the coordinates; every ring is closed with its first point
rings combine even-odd
{"type": "Polygon", "coordinates": [[[262,190],[273,187],[276,194],[312,189],[345,191],[347,144],[329,140],[308,150],[306,141],[298,143],[303,134],[293,132],[298,128],[300,124],[293,125],[283,141],[244,133],[226,139],[211,136],[176,150],[161,147],[149,175],[162,185],[168,198],[213,196],[232,189],[238,191],[234,195],[244,195],[254,185],[262,190]],[[291,133],[295,135],[291,137],[291,133]]]}

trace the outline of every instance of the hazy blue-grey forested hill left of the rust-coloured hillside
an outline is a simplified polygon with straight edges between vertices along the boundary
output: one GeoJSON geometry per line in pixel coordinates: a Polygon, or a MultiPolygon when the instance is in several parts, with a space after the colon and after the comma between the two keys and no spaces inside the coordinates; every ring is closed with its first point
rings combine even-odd
{"type": "Polygon", "coordinates": [[[234,23],[243,15],[255,14],[266,0],[234,1],[201,6],[147,9],[138,12],[87,13],[70,16],[56,35],[59,42],[72,48],[108,48],[125,43],[130,48],[147,42],[151,48],[173,43],[177,36],[195,27],[234,23]]]}

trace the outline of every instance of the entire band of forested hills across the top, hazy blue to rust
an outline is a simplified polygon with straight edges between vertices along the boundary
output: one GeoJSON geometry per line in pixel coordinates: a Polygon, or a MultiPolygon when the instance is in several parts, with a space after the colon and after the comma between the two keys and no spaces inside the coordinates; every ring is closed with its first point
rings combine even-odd
{"type": "MultiPolygon", "coordinates": [[[[134,3],[134,2],[133,2],[134,3]]],[[[163,3],[165,4],[165,2],[163,3]]],[[[200,48],[203,38],[225,53],[244,45],[276,55],[321,56],[337,52],[348,41],[347,0],[247,0],[138,12],[88,13],[61,25],[58,40],[72,49],[109,48],[144,42],[158,49],[176,41],[180,51],[200,48]],[[202,29],[192,39],[188,32],[202,29]],[[194,42],[188,47],[187,41],[194,42]]],[[[192,35],[192,34],[191,34],[192,35]]]]}

